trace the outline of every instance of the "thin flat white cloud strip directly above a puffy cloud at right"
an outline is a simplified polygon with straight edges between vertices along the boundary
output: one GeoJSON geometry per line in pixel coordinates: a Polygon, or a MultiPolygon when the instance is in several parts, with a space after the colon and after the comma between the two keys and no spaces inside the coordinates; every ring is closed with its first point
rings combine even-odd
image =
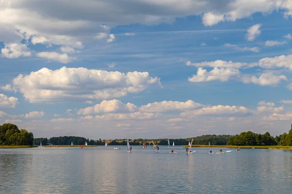
{"type": "Polygon", "coordinates": [[[222,60],[216,60],[211,62],[201,62],[201,63],[191,63],[190,61],[187,61],[185,63],[188,66],[196,66],[196,67],[232,67],[232,68],[240,68],[243,66],[248,66],[248,63],[234,63],[232,61],[222,61],[222,60]]]}

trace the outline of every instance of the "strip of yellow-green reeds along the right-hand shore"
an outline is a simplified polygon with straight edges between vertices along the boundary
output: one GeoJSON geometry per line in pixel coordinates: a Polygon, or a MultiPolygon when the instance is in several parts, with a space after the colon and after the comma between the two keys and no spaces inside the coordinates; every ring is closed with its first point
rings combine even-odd
{"type": "MultiPolygon", "coordinates": [[[[184,146],[187,147],[187,146],[184,146]]],[[[192,145],[192,147],[227,147],[227,148],[237,148],[240,149],[250,149],[250,148],[261,148],[261,149],[292,149],[292,146],[209,146],[209,145],[192,145]]]]}

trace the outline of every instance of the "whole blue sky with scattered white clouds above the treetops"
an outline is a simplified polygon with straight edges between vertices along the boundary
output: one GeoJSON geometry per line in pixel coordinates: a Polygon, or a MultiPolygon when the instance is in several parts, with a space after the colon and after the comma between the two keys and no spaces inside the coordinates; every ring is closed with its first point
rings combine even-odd
{"type": "Polygon", "coordinates": [[[0,125],[37,137],[271,135],[292,0],[0,0],[0,125]]]}

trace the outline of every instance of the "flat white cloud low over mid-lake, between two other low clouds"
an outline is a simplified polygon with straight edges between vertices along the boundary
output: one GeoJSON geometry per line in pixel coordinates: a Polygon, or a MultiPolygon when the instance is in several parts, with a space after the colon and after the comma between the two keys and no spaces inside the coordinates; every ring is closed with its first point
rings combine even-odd
{"type": "Polygon", "coordinates": [[[167,111],[182,111],[188,109],[198,109],[203,107],[202,104],[196,103],[193,100],[187,100],[185,102],[179,101],[162,101],[153,102],[140,107],[141,112],[167,112],[167,111]]]}

